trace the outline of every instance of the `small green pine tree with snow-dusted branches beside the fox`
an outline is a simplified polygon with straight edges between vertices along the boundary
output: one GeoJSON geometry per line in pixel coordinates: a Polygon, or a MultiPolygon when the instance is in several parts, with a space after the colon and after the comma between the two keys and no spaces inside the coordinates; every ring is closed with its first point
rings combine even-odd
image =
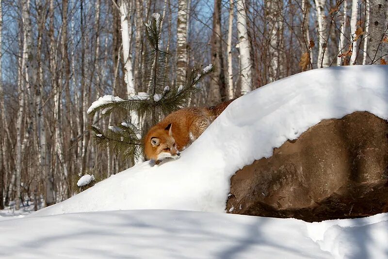
{"type": "Polygon", "coordinates": [[[151,20],[145,24],[151,49],[145,55],[143,67],[145,71],[143,84],[147,86],[147,91],[131,95],[126,100],[106,95],[100,97],[88,110],[90,116],[100,111],[101,119],[113,112],[126,118],[118,126],[109,126],[108,130],[101,130],[96,125],[91,125],[90,129],[94,133],[94,140],[98,146],[109,147],[114,154],[123,159],[129,159],[132,164],[143,155],[143,141],[141,122],[131,118],[141,118],[140,121],[148,120],[152,124],[157,123],[162,116],[187,105],[189,98],[200,91],[196,85],[214,70],[211,64],[204,69],[190,69],[186,82],[170,89],[170,54],[159,48],[161,22],[160,14],[152,14],[151,20]]]}

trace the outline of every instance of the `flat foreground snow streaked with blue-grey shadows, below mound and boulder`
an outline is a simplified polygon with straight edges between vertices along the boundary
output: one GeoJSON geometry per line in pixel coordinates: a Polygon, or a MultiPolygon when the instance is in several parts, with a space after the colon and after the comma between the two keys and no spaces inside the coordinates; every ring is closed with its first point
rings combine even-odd
{"type": "Polygon", "coordinates": [[[383,239],[388,213],[311,224],[209,212],[127,210],[25,217],[0,222],[0,229],[1,258],[386,259],[388,252],[383,239]],[[309,231],[323,227],[323,239],[311,239],[309,231]]]}

